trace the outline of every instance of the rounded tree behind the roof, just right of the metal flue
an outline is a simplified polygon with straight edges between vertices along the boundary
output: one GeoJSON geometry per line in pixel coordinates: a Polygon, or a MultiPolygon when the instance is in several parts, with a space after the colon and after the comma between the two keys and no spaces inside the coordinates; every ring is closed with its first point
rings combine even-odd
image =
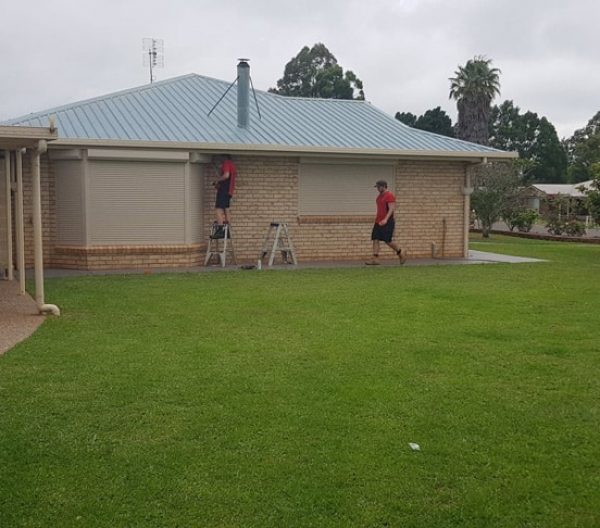
{"type": "Polygon", "coordinates": [[[364,100],[362,81],[348,70],[344,72],[325,44],[304,46],[286,65],[277,88],[269,92],[296,97],[364,100]],[[356,94],[356,97],[355,97],[356,94]]]}

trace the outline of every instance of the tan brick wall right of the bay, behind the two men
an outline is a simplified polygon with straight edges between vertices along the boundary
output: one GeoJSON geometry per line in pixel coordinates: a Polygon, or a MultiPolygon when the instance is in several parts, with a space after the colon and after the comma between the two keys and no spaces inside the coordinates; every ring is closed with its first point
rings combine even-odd
{"type": "MultiPolygon", "coordinates": [[[[241,157],[231,224],[239,260],[255,262],[273,220],[288,222],[299,260],[364,260],[371,254],[373,216],[298,216],[297,158],[241,157]]],[[[396,236],[409,257],[431,257],[431,244],[446,257],[463,255],[465,165],[461,162],[414,161],[396,169],[396,236]],[[445,228],[444,228],[445,223],[445,228]],[[445,236],[444,236],[445,229],[445,236]]],[[[213,219],[215,191],[208,171],[205,225],[213,219]]],[[[373,189],[373,210],[376,191],[373,189]]],[[[389,249],[381,256],[393,257],[389,249]]]]}

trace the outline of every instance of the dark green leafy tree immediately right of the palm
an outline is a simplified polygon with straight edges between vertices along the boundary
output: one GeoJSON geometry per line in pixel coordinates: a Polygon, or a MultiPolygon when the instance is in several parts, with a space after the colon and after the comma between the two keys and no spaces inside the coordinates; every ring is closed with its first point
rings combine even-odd
{"type": "Polygon", "coordinates": [[[565,181],[567,155],[556,129],[534,112],[521,114],[512,101],[494,106],[490,112],[489,144],[519,153],[525,182],[565,181]]]}

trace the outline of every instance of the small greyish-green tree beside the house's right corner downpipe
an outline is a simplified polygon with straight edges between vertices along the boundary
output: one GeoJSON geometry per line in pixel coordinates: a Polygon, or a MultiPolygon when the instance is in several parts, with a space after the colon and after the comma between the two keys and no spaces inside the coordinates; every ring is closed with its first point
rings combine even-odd
{"type": "Polygon", "coordinates": [[[487,163],[473,172],[471,207],[481,222],[483,237],[488,238],[492,225],[520,200],[521,182],[511,163],[487,163]]]}

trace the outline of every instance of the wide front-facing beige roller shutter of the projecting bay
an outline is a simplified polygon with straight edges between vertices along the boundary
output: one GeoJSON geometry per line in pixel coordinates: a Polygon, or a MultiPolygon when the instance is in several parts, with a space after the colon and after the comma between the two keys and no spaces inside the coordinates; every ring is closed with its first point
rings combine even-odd
{"type": "Polygon", "coordinates": [[[90,243],[183,244],[184,176],[184,163],[90,161],[90,243]]]}

